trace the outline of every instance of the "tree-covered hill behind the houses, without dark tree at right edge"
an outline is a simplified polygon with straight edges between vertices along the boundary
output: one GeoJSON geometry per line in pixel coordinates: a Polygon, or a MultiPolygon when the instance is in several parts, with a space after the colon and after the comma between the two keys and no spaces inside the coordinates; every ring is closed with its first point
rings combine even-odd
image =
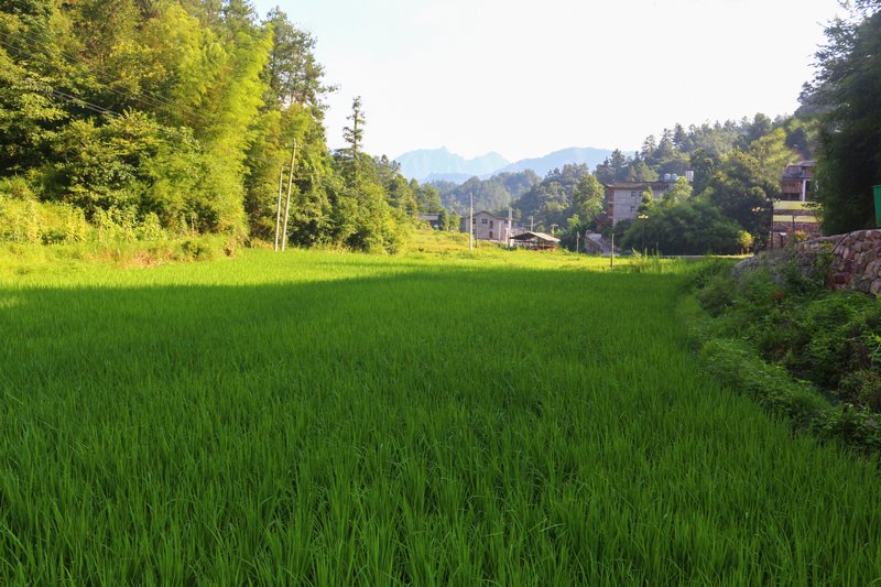
{"type": "Polygon", "coordinates": [[[665,174],[694,171],[671,197],[644,203],[645,225],[624,221],[616,232],[626,247],[639,248],[645,235],[671,253],[737,252],[744,243],[762,244],[771,227],[772,200],[780,197],[780,175],[787,163],[812,156],[816,123],[801,117],[765,115],[739,121],[674,124],[660,138],[649,135],[637,153],[611,152],[594,170],[565,164],[539,177],[531,171],[505,173],[464,184],[435,182],[445,206],[465,214],[469,196],[476,209],[505,214],[509,206],[524,226],[545,231],[606,230],[603,184],[654,182],[665,174]],[[651,209],[650,209],[651,208],[651,209]],[[687,238],[684,238],[686,235],[687,238]]]}

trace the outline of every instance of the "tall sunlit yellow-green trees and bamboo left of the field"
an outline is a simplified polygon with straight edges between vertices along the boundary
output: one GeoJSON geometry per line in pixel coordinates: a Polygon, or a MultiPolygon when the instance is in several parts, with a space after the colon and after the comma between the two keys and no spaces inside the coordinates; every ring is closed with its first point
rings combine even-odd
{"type": "Polygon", "coordinates": [[[360,99],[328,151],[314,46],[244,0],[4,3],[0,178],[26,189],[2,189],[0,215],[69,206],[93,226],[272,240],[296,145],[291,242],[394,249],[420,188],[361,152],[360,99]]]}

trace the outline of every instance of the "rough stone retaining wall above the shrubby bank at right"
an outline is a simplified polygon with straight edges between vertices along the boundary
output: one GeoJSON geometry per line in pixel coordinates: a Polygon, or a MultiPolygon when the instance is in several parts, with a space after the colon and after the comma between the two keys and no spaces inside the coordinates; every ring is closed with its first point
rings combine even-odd
{"type": "Polygon", "coordinates": [[[818,258],[829,253],[830,287],[881,294],[881,230],[822,237],[795,248],[798,265],[805,269],[816,267],[818,258]]]}

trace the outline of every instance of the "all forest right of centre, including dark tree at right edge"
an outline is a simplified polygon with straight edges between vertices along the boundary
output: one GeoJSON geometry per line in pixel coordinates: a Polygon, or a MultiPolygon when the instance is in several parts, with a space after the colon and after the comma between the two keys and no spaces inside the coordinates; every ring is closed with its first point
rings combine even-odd
{"type": "Polygon", "coordinates": [[[773,200],[781,196],[786,164],[816,159],[817,213],[827,233],[873,226],[871,186],[881,184],[881,2],[861,0],[849,17],[826,28],[816,76],[806,83],[793,116],[674,124],[649,135],[633,155],[616,150],[595,170],[569,164],[544,178],[532,172],[463,185],[433,183],[445,206],[505,214],[523,226],[554,230],[572,248],[575,233],[612,229],[603,222],[603,185],[654,182],[694,172],[661,202],[646,199],[640,216],[614,232],[626,248],[648,239],[672,253],[740,252],[765,244],[773,200]]]}

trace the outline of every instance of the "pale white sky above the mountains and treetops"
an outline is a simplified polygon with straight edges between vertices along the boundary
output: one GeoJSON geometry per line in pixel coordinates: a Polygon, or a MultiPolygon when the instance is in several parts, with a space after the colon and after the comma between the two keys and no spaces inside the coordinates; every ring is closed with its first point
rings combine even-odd
{"type": "Polygon", "coordinates": [[[792,113],[836,0],[253,0],[318,42],[328,143],[509,160],[638,149],[676,122],[792,113]]]}

